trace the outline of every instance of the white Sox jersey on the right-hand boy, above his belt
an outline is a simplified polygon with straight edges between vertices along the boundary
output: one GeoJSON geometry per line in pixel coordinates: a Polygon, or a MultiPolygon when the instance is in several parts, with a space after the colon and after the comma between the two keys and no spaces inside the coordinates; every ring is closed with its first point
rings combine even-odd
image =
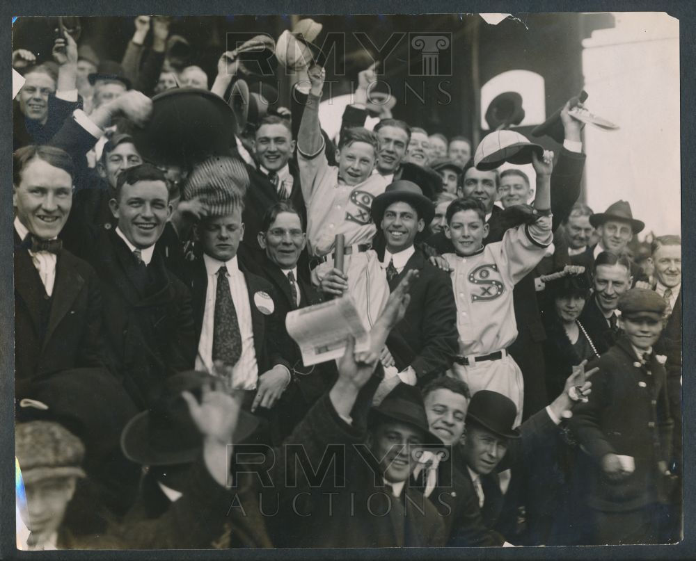
{"type": "Polygon", "coordinates": [[[517,337],[512,289],[544,257],[551,243],[551,217],[505,232],[476,254],[443,255],[452,269],[457,301],[459,354],[487,355],[507,348],[517,337]]]}

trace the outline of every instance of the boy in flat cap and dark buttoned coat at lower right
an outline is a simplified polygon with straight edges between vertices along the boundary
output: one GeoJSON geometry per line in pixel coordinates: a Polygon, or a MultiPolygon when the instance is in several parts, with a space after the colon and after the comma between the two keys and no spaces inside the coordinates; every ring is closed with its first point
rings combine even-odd
{"type": "Polygon", "coordinates": [[[663,543],[672,418],[665,357],[653,348],[663,329],[665,300],[646,288],[619,299],[624,335],[589,366],[593,391],[571,423],[594,460],[588,503],[594,544],[663,543]]]}

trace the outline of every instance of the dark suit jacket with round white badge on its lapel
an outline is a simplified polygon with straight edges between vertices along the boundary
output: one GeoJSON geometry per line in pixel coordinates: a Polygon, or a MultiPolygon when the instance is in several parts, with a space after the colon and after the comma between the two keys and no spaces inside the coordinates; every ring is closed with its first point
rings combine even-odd
{"type": "MultiPolygon", "coordinates": [[[[254,334],[254,350],[256,352],[256,363],[258,364],[259,375],[276,364],[283,364],[287,368],[291,365],[283,359],[280,353],[279,343],[283,341],[283,325],[280,323],[280,314],[278,313],[278,296],[273,289],[273,286],[262,277],[250,273],[246,268],[241,268],[246,281],[246,290],[249,295],[249,307],[251,308],[251,327],[254,334]],[[272,314],[266,316],[256,307],[254,303],[255,293],[263,291],[271,296],[276,304],[272,314]]],[[[191,291],[193,298],[193,331],[194,331],[194,347],[198,349],[200,341],[200,331],[203,327],[203,314],[205,314],[205,293],[208,288],[208,276],[205,270],[203,257],[189,263],[187,269],[187,285],[191,291]]],[[[195,352],[194,352],[195,354],[195,352]]],[[[291,370],[292,371],[292,370],[291,370]]]]}

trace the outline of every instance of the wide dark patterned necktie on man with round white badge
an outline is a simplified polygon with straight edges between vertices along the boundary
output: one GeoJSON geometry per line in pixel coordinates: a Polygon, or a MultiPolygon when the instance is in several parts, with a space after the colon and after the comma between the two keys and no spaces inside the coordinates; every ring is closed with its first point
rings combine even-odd
{"type": "Polygon", "coordinates": [[[220,360],[226,366],[234,366],[242,356],[242,333],[239,331],[237,309],[230,293],[227,268],[219,268],[217,275],[212,359],[220,360]]]}

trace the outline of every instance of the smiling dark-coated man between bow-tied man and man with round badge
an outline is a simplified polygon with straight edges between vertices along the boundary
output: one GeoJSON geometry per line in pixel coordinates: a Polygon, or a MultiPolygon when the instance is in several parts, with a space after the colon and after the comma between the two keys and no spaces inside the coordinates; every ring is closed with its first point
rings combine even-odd
{"type": "Polygon", "coordinates": [[[155,251],[171,216],[164,174],[151,164],[121,172],[109,202],[118,224],[90,250],[104,295],[107,343],[141,409],[164,379],[193,367],[191,295],[155,251]]]}

